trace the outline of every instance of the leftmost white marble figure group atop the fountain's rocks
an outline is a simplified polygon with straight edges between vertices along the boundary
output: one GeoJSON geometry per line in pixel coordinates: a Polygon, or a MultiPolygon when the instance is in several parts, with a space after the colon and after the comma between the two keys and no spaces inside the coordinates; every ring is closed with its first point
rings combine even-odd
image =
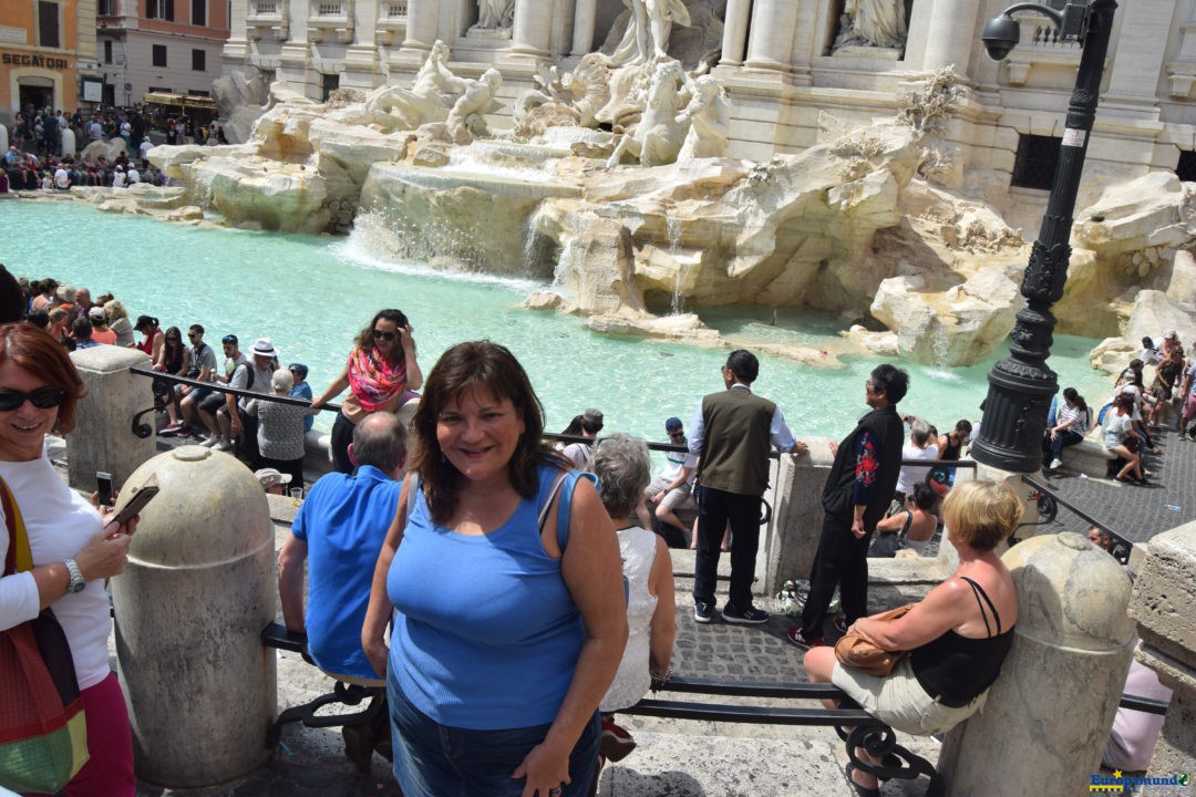
{"type": "Polygon", "coordinates": [[[410,88],[384,86],[366,99],[365,123],[392,133],[446,121],[454,98],[460,97],[470,82],[454,75],[447,61],[448,45],[437,39],[410,88]]]}

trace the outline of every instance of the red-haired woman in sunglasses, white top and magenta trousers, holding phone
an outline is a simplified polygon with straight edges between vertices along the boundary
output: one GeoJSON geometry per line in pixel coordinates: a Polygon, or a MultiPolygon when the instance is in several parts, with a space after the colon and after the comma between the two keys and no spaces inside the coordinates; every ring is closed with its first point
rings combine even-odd
{"type": "MultiPolygon", "coordinates": [[[[6,568],[0,577],[0,630],[53,607],[71,645],[90,755],[62,793],[133,797],[133,738],[108,664],[112,620],[104,580],[124,570],[136,520],[106,526],[109,511],[67,488],[44,453],[47,434],[74,427],[81,394],[83,380],[54,338],[31,324],[0,326],[0,479],[16,503],[4,525],[19,513],[32,554],[32,569],[8,574],[6,568]]],[[[5,511],[0,504],[0,519],[5,511]]],[[[0,559],[8,545],[5,532],[0,559]]]]}

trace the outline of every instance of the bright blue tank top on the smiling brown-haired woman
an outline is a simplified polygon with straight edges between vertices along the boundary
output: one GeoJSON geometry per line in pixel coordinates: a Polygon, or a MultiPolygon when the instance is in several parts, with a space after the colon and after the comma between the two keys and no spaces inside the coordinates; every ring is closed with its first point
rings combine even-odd
{"type": "Polygon", "coordinates": [[[565,700],[585,630],[537,527],[559,473],[541,466],[537,495],[480,537],[432,522],[422,491],[411,501],[386,576],[396,609],[390,667],[404,697],[443,725],[547,724],[565,700]]]}

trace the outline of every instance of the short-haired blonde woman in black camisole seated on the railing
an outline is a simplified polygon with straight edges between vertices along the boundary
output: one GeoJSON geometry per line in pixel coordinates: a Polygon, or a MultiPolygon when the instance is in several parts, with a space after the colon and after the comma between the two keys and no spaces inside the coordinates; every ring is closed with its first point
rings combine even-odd
{"type": "MultiPolygon", "coordinates": [[[[944,538],[959,553],[956,571],[904,617],[862,618],[849,629],[883,650],[909,652],[878,678],[838,663],[829,645],[811,648],[805,655],[810,680],[832,682],[880,722],[916,736],[946,732],[983,709],[1018,621],[1013,577],[994,548],[1013,533],[1021,513],[1021,501],[1002,484],[957,484],[942,504],[944,538]]],[[[834,700],[824,703],[836,707],[834,700]]],[[[862,748],[856,755],[875,761],[862,748]]],[[[880,793],[874,775],[850,764],[846,774],[861,797],[880,793]]]]}

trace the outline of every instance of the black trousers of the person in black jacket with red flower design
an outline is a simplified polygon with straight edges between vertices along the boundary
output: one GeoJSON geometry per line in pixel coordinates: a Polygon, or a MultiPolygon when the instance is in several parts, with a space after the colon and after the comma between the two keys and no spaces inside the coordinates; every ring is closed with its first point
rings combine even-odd
{"type": "Polygon", "coordinates": [[[843,613],[850,625],[868,614],[868,546],[872,532],[864,539],[852,534],[852,515],[828,514],[823,520],[818,552],[810,570],[810,596],[801,609],[801,636],[823,636],[826,609],[838,587],[843,613]]]}

